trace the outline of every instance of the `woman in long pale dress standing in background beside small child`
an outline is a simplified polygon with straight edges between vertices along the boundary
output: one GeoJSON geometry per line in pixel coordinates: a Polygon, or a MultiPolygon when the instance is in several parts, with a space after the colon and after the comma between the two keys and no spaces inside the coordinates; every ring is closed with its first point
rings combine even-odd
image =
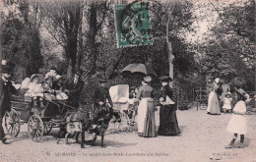
{"type": "Polygon", "coordinates": [[[217,94],[217,91],[220,88],[219,81],[220,80],[217,80],[217,79],[215,80],[214,87],[209,94],[207,114],[221,115],[221,108],[220,108],[220,103],[219,103],[218,94],[217,94]]]}

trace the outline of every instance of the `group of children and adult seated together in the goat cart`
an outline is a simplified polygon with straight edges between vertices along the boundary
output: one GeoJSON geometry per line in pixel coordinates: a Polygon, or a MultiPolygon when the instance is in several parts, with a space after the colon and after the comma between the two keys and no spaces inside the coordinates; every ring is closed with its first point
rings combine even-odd
{"type": "Polygon", "coordinates": [[[45,76],[33,74],[22,81],[20,88],[26,90],[26,97],[32,98],[32,107],[43,108],[43,98],[46,100],[68,100],[70,106],[79,107],[79,96],[84,86],[81,80],[82,71],[77,70],[72,80],[63,80],[52,67],[45,76]],[[43,78],[42,78],[43,77],[43,78]]]}

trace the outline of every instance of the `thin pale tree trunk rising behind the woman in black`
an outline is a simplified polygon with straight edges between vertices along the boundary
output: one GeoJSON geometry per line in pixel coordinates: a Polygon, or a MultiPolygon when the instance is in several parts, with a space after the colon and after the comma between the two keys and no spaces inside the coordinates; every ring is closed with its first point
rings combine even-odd
{"type": "MultiPolygon", "coordinates": [[[[171,42],[169,41],[169,34],[168,34],[168,28],[169,28],[169,14],[167,18],[167,23],[166,23],[166,44],[167,44],[167,51],[168,51],[168,61],[169,61],[169,77],[173,79],[173,59],[174,56],[172,55],[172,47],[171,47],[171,42]]],[[[170,87],[173,87],[173,83],[169,83],[170,87]]]]}

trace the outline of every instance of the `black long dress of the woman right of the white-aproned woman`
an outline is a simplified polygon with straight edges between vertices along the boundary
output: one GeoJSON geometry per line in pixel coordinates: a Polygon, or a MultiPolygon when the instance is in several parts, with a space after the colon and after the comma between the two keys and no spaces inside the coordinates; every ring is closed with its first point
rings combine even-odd
{"type": "MultiPolygon", "coordinates": [[[[168,84],[161,88],[161,97],[166,101],[167,97],[172,99],[172,89],[168,84]]],[[[174,104],[167,104],[160,106],[160,128],[159,135],[178,135],[180,130],[175,112],[174,104]]]]}

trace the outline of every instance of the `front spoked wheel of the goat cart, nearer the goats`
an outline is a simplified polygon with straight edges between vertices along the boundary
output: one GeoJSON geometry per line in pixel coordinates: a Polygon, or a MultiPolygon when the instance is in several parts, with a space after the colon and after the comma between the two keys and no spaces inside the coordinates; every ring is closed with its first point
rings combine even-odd
{"type": "Polygon", "coordinates": [[[39,116],[32,115],[28,122],[28,133],[32,140],[40,141],[43,135],[43,123],[39,116]]]}

